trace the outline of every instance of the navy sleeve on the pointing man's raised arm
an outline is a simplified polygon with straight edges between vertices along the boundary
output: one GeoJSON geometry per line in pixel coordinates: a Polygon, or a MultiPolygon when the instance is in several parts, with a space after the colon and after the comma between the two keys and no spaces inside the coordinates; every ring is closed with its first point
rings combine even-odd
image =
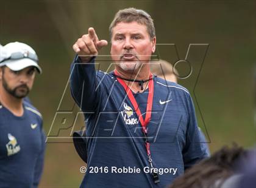
{"type": "Polygon", "coordinates": [[[90,62],[82,63],[76,55],[71,64],[71,95],[83,112],[95,112],[101,98],[93,57],[90,62]]]}

